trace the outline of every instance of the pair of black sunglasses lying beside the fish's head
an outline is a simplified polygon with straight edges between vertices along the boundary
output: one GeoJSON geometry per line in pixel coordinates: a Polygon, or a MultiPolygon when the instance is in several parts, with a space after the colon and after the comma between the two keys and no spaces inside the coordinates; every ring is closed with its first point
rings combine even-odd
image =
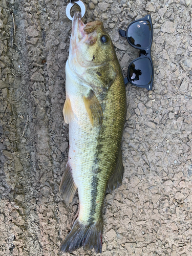
{"type": "Polygon", "coordinates": [[[150,14],[132,22],[126,31],[120,29],[119,34],[126,37],[131,46],[140,50],[139,57],[134,59],[127,71],[124,83],[152,90],[154,69],[151,57],[153,41],[153,24],[150,14]]]}

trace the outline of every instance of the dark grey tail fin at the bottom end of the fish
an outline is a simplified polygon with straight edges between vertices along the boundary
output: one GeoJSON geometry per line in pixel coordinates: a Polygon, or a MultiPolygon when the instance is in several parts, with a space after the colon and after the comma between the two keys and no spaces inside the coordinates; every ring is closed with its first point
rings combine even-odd
{"type": "Polygon", "coordinates": [[[60,251],[72,252],[82,247],[84,249],[93,249],[96,253],[102,250],[102,232],[103,220],[91,225],[85,226],[78,219],[74,222],[71,232],[63,242],[60,251]]]}

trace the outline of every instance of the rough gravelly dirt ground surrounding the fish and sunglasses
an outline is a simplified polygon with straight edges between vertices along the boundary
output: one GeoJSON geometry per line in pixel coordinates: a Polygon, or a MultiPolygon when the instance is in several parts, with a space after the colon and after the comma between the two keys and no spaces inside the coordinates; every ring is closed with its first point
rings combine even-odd
{"type": "MultiPolygon", "coordinates": [[[[86,0],[124,76],[139,51],[118,29],[151,13],[153,91],[128,84],[121,187],[106,195],[103,256],[192,255],[190,0],[86,0]]],[[[58,255],[78,196],[58,187],[68,157],[63,121],[71,21],[67,1],[0,0],[0,254],[58,255]]],[[[59,255],[61,255],[60,253],[59,255]]],[[[66,255],[96,255],[79,249],[66,255]]]]}

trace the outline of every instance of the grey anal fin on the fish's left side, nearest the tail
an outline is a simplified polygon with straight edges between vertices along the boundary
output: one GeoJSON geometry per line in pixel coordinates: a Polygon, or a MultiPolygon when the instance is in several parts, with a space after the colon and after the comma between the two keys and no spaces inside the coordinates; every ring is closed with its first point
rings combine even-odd
{"type": "Polygon", "coordinates": [[[67,203],[71,203],[76,192],[76,185],[73,180],[72,170],[70,164],[67,162],[66,170],[62,176],[61,183],[59,186],[59,192],[61,197],[67,203]]]}

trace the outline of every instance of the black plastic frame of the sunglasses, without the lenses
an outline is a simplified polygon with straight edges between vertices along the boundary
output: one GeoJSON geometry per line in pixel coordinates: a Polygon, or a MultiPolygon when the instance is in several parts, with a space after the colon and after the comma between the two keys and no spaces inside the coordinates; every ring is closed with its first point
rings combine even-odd
{"type": "Polygon", "coordinates": [[[151,15],[150,14],[147,14],[144,18],[139,18],[139,19],[136,19],[134,20],[134,22],[130,23],[130,25],[127,27],[126,31],[122,30],[122,29],[119,29],[119,34],[123,37],[126,37],[127,41],[129,42],[129,44],[140,50],[140,53],[139,53],[139,57],[134,59],[131,63],[130,63],[130,66],[127,70],[127,77],[124,78],[124,83],[128,83],[130,82],[131,84],[133,84],[133,86],[137,86],[137,87],[141,87],[141,88],[146,88],[148,91],[151,91],[152,90],[152,87],[153,87],[153,80],[154,80],[154,67],[153,67],[153,61],[152,61],[152,57],[151,57],[151,48],[152,48],[152,42],[153,42],[153,24],[152,24],[152,18],[151,18],[151,15]],[[143,21],[143,20],[147,20],[150,25],[151,25],[151,28],[152,28],[152,36],[151,36],[151,41],[150,41],[150,45],[148,47],[139,47],[139,46],[135,46],[135,45],[132,45],[129,40],[128,40],[128,30],[129,30],[129,27],[135,23],[135,22],[139,22],[139,21],[143,21]],[[138,59],[142,59],[142,58],[148,58],[151,62],[151,65],[152,65],[152,80],[151,80],[151,83],[150,84],[145,84],[145,85],[138,85],[138,84],[134,84],[130,78],[129,78],[129,69],[132,65],[133,62],[135,62],[136,60],[138,59]]]}

